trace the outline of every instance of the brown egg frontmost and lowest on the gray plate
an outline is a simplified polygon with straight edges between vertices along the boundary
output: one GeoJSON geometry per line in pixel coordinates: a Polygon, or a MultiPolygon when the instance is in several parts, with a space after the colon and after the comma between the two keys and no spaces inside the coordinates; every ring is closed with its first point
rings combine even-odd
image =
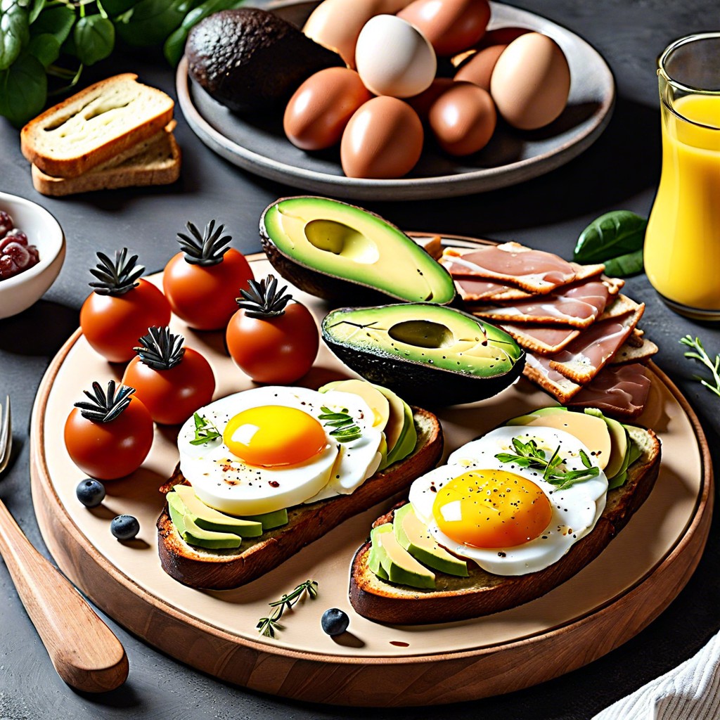
{"type": "Polygon", "coordinates": [[[351,178],[399,178],[423,150],[423,124],[408,103],[379,96],[350,118],[340,143],[343,172],[351,178]]]}

